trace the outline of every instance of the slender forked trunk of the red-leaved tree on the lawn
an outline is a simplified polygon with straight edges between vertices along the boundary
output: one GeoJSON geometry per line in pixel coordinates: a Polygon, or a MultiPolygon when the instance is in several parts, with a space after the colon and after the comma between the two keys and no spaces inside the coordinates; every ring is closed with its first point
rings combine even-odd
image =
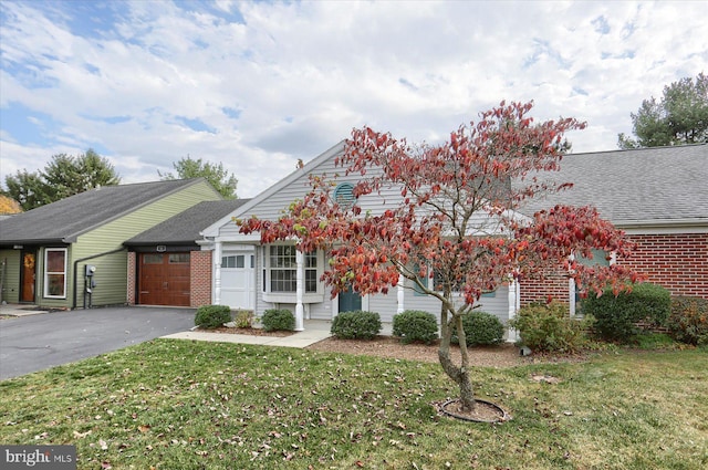
{"type": "Polygon", "coordinates": [[[457,326],[457,336],[460,343],[461,365],[457,366],[450,357],[450,341],[452,338],[452,325],[448,323],[448,313],[450,309],[442,305],[440,310],[440,347],[438,349],[438,359],[442,366],[442,370],[450,377],[460,388],[460,404],[462,410],[470,411],[475,408],[475,390],[469,378],[469,356],[467,354],[467,342],[465,338],[465,330],[462,330],[462,317],[452,314],[451,322],[457,326]]]}

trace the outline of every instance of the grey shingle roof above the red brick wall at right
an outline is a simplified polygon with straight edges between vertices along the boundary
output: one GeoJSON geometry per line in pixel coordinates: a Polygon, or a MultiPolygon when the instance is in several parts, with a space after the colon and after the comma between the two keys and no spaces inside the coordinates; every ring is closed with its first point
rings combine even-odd
{"type": "Polygon", "coordinates": [[[540,178],[573,187],[531,201],[522,212],[594,206],[617,227],[708,227],[708,144],[570,154],[560,166],[540,178]]]}

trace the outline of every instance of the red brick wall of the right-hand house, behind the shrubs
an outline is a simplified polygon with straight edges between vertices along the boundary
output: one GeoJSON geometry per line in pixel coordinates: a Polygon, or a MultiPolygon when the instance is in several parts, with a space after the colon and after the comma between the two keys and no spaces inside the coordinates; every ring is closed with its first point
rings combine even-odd
{"type": "MultiPolygon", "coordinates": [[[[633,234],[636,243],[628,260],[617,260],[660,284],[673,295],[708,299],[708,233],[633,234]]],[[[568,302],[568,278],[562,273],[545,279],[521,280],[521,305],[548,301],[568,302]]]]}

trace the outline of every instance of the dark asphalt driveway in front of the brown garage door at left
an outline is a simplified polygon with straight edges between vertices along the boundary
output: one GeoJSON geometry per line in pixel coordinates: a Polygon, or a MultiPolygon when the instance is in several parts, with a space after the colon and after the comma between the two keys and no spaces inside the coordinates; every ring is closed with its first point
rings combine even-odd
{"type": "Polygon", "coordinates": [[[0,380],[73,363],[195,324],[192,309],[106,307],[0,320],[0,380]]]}

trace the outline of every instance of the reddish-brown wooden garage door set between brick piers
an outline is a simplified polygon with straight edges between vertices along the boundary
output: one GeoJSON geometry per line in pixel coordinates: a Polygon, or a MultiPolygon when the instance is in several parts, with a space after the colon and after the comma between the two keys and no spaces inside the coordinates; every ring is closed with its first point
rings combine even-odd
{"type": "Polygon", "coordinates": [[[189,253],[140,254],[138,303],[189,306],[189,253]]]}

